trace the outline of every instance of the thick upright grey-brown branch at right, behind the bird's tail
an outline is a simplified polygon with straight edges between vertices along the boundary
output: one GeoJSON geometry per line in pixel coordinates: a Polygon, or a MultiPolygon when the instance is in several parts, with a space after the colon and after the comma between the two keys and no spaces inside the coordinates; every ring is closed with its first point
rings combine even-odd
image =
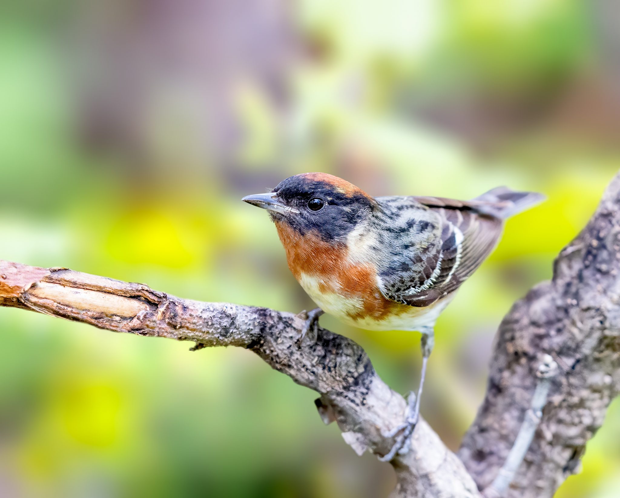
{"type": "Polygon", "coordinates": [[[479,486],[497,476],[528,411],[545,354],[559,365],[549,402],[505,496],[544,498],[578,471],[620,388],[620,175],[556,259],[551,282],[500,324],[486,397],[458,452],[479,486]]]}

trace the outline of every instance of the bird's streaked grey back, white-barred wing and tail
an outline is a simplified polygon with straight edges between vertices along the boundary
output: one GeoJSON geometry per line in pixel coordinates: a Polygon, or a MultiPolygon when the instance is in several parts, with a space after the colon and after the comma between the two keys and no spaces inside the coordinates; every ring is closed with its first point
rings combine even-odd
{"type": "Polygon", "coordinates": [[[400,251],[387,254],[380,265],[383,295],[392,301],[424,307],[456,290],[493,251],[502,234],[503,220],[539,203],[535,192],[514,192],[497,187],[469,201],[443,197],[377,198],[391,224],[420,227],[430,221],[432,230],[399,233],[400,251]]]}

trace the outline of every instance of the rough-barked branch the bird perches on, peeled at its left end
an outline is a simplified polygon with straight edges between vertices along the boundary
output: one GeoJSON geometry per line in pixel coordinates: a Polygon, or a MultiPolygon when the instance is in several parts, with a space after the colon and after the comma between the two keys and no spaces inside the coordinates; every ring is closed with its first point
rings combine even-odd
{"type": "MultiPolygon", "coordinates": [[[[345,441],[361,455],[385,455],[384,436],[404,420],[405,400],[376,374],[361,347],[319,329],[298,342],[303,320],[290,313],[228,303],[202,303],[68,269],[43,269],[0,260],[0,306],[31,309],[100,329],[140,336],[193,340],[193,349],[238,346],[275,370],[321,394],[325,423],[337,421],[345,441]]],[[[461,461],[420,420],[407,455],[392,460],[394,497],[479,497],[461,461]]]]}

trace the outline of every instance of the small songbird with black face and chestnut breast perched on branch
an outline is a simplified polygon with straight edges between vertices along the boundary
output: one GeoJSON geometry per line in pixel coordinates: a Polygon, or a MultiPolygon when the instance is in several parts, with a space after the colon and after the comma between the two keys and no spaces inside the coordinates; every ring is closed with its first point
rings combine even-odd
{"type": "Polygon", "coordinates": [[[382,460],[409,450],[439,314],[494,249],[503,221],[542,198],[506,187],[469,201],[371,197],[339,177],[305,173],[242,199],[269,211],[288,267],[319,305],[301,339],[323,313],[361,329],[422,333],[420,386],[382,460]]]}

